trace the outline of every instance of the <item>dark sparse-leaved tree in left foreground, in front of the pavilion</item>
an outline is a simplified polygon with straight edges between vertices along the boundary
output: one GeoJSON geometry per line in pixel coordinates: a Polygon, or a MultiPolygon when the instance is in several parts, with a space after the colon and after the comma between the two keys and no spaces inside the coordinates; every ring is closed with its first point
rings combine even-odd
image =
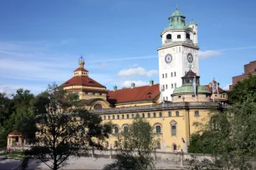
{"type": "Polygon", "coordinates": [[[37,124],[37,146],[24,153],[23,168],[32,159],[38,159],[49,168],[64,167],[70,155],[87,151],[89,147],[103,148],[110,126],[101,118],[81,107],[78,96],[66,94],[56,84],[49,86],[33,102],[34,121],[37,124]]]}

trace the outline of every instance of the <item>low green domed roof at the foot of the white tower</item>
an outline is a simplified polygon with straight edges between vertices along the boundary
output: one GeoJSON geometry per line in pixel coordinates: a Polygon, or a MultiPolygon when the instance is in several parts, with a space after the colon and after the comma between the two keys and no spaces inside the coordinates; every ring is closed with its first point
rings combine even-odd
{"type": "MultiPolygon", "coordinates": [[[[182,93],[194,93],[194,87],[191,86],[182,86],[182,87],[177,87],[174,89],[173,91],[173,95],[175,94],[182,94],[182,93]]],[[[204,87],[204,86],[197,86],[197,93],[211,93],[209,91],[208,87],[204,87]]]]}

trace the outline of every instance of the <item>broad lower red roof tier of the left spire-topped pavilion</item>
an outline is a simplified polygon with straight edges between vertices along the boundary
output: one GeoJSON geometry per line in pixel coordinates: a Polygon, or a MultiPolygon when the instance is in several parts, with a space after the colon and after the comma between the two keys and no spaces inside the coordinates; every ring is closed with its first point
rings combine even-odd
{"type": "Polygon", "coordinates": [[[88,76],[74,76],[70,78],[67,82],[64,82],[61,87],[68,87],[74,85],[82,85],[89,87],[105,87],[101,85],[99,82],[96,82],[94,79],[88,76]]]}

